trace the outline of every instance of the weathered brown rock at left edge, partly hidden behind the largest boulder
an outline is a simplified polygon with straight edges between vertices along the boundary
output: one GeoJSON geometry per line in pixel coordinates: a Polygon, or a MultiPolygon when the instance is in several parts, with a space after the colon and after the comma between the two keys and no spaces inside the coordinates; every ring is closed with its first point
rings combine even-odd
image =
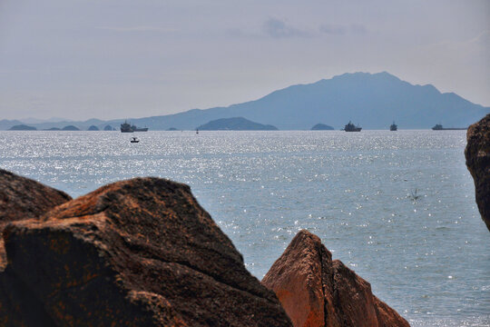
{"type": "Polygon", "coordinates": [[[6,264],[2,238],[5,223],[38,218],[71,199],[64,192],[0,169],[0,271],[6,264]]]}

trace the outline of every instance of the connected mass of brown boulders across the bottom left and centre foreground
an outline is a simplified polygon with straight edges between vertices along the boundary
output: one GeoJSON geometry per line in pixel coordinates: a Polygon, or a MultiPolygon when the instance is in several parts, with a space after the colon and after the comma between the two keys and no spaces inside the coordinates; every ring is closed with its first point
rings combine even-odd
{"type": "Polygon", "coordinates": [[[181,183],[136,178],[70,201],[2,171],[0,222],[2,326],[408,325],[306,231],[261,284],[181,183]]]}

